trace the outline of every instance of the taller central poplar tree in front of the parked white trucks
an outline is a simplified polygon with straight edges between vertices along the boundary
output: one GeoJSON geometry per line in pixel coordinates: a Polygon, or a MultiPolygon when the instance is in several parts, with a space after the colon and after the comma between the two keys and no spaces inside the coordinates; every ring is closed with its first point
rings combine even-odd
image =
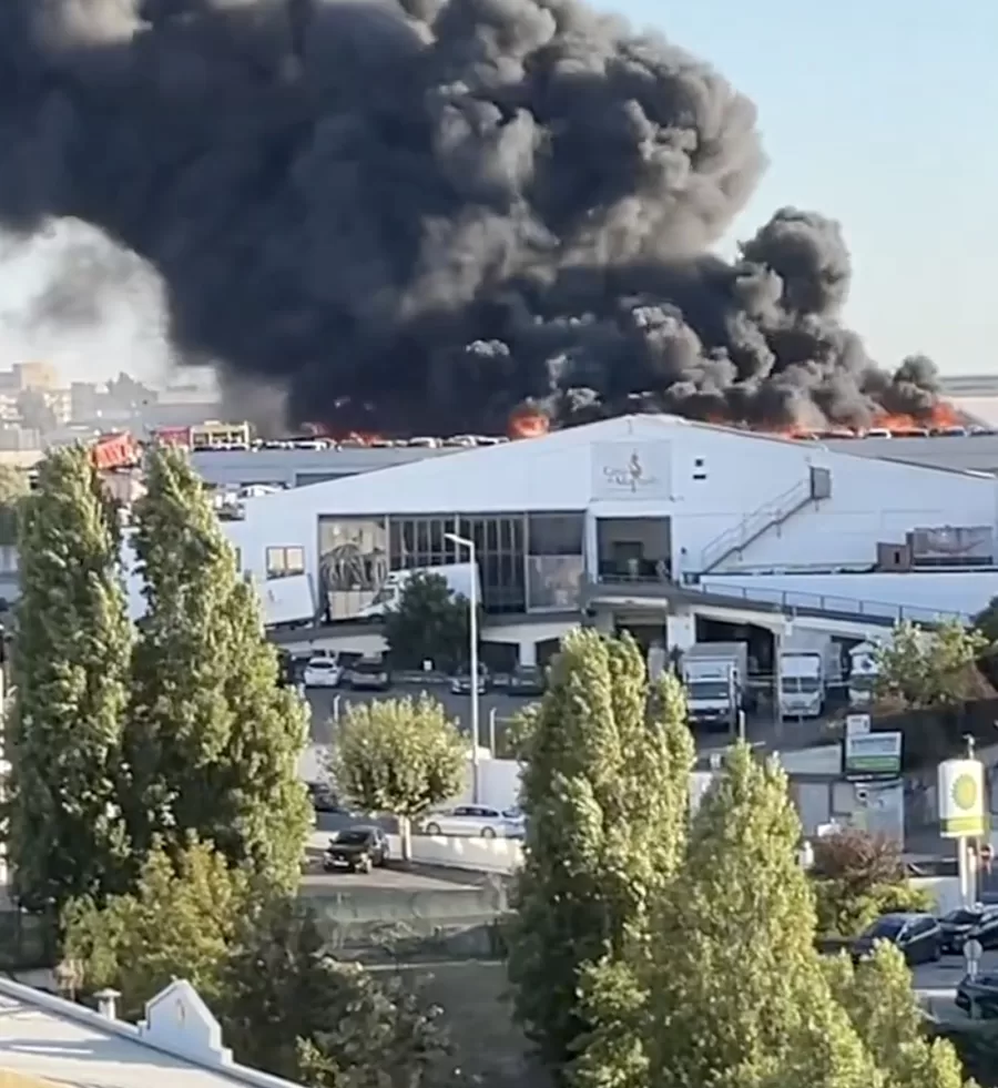
{"type": "Polygon", "coordinates": [[[509,975],[518,1018],[563,1079],[573,1061],[590,1084],[614,1064],[645,1069],[642,949],[682,856],[693,765],[676,681],[652,694],[630,638],[572,632],[521,741],[509,975]]]}

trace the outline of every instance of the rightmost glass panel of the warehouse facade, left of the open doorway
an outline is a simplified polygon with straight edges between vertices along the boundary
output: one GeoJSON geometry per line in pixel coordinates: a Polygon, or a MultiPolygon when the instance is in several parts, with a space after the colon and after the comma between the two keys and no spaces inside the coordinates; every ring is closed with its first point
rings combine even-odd
{"type": "Polygon", "coordinates": [[[585,572],[585,515],[528,515],[527,546],[528,610],[578,608],[585,572]]]}

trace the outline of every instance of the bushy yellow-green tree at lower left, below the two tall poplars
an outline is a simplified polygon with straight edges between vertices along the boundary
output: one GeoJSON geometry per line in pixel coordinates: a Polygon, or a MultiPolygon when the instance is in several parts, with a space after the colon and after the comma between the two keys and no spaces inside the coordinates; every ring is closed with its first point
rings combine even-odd
{"type": "Polygon", "coordinates": [[[171,853],[154,845],[134,892],[103,908],[86,898],[68,905],[63,958],[80,965],[84,990],[120,990],[126,1018],[173,978],[214,1004],[251,892],[247,873],[208,843],[191,840],[171,853]]]}

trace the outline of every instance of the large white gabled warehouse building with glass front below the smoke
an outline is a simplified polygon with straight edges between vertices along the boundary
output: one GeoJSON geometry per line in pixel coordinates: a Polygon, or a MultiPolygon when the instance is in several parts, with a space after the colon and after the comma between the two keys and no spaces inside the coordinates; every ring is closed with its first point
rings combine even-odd
{"type": "Polygon", "coordinates": [[[252,498],[226,530],[268,622],[354,643],[390,571],[468,537],[486,643],[530,664],[583,616],[680,649],[967,617],[998,596],[996,521],[992,476],[637,415],[252,498]]]}

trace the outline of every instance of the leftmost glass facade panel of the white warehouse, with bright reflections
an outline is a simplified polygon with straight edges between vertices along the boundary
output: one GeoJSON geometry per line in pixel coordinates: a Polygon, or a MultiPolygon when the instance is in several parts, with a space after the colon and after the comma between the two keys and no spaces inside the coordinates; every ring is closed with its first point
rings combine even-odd
{"type": "Polygon", "coordinates": [[[357,616],[388,574],[385,518],[319,518],[319,582],[330,620],[357,616]]]}

